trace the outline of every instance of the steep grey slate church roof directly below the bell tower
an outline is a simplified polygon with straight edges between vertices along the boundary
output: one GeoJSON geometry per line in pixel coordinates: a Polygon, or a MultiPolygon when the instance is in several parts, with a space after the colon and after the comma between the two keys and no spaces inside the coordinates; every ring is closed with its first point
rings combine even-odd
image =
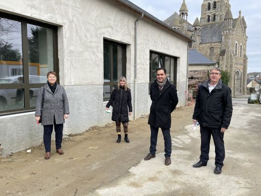
{"type": "MultiPolygon", "coordinates": [[[[236,25],[237,19],[233,19],[232,27],[236,25]]],[[[204,43],[213,43],[222,41],[222,30],[225,26],[225,21],[216,22],[216,23],[207,23],[202,25],[201,28],[201,42],[204,43]]]]}

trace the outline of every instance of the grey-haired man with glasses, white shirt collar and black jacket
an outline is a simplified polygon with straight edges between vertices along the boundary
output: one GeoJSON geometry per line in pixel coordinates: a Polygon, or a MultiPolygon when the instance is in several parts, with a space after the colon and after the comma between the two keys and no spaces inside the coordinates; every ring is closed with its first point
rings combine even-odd
{"type": "Polygon", "coordinates": [[[194,168],[207,166],[209,160],[211,135],[215,145],[215,170],[221,173],[225,159],[224,132],[227,130],[232,117],[231,89],[222,84],[221,70],[214,67],[210,71],[210,79],[199,87],[193,113],[193,124],[200,124],[201,154],[200,161],[194,168]]]}

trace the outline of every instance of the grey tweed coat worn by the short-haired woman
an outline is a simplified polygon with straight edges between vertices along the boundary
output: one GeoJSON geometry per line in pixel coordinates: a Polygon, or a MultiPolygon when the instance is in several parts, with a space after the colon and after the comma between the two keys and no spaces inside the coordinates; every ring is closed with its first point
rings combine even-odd
{"type": "MultiPolygon", "coordinates": [[[[54,93],[51,92],[48,84],[45,87],[45,100],[42,113],[42,125],[65,123],[63,119],[65,114],[69,114],[69,103],[66,92],[62,86],[57,84],[54,93]]],[[[41,116],[43,87],[40,88],[35,107],[35,116],[41,116]]]]}

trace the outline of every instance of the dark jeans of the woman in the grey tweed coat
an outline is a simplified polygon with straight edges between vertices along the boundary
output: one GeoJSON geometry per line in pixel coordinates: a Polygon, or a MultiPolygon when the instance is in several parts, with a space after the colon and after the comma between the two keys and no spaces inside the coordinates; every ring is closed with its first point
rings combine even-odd
{"type": "Polygon", "coordinates": [[[45,144],[46,152],[51,151],[51,134],[52,134],[53,125],[55,131],[56,149],[61,149],[62,147],[64,124],[56,124],[54,121],[54,124],[44,125],[44,144],[45,144]]]}

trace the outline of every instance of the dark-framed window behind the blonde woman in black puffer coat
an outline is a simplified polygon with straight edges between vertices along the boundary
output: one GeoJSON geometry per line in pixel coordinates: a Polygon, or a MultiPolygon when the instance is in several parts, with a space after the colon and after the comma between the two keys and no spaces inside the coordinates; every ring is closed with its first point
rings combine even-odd
{"type": "Polygon", "coordinates": [[[103,100],[110,99],[119,78],[126,77],[126,45],[103,40],[103,100]]]}

